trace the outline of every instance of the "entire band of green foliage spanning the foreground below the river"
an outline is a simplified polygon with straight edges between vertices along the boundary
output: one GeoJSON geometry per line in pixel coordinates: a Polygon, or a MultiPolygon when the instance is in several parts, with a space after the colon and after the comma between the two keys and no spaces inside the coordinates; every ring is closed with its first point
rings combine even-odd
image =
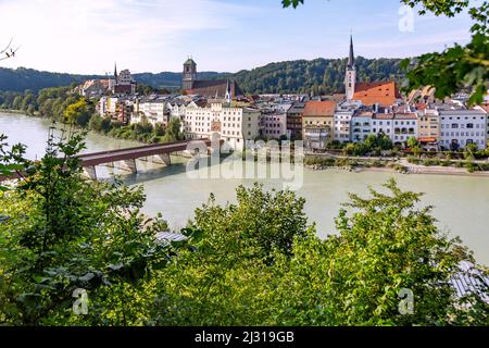
{"type": "MultiPolygon", "coordinates": [[[[165,246],[155,240],[165,222],[139,212],[140,188],[80,176],[80,139],[51,137],[42,160],[26,161],[25,178],[0,194],[1,323],[489,325],[488,303],[457,300],[450,284],[469,251],[393,181],[369,198],[351,195],[325,239],[302,198],[255,185],[238,187],[235,204],[211,197],[181,231],[188,240],[165,246]],[[72,310],[77,288],[88,293],[86,315],[72,310]],[[401,314],[403,289],[414,308],[401,314]]],[[[14,152],[2,162],[23,147],[14,152]]]]}

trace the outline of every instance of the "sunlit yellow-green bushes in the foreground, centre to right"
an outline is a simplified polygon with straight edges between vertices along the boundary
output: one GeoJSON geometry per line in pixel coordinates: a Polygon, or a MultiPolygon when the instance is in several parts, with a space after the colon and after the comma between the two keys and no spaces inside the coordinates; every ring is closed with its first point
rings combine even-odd
{"type": "MultiPolygon", "coordinates": [[[[321,240],[313,226],[302,225],[290,250],[277,247],[268,257],[249,244],[249,224],[256,222],[262,231],[275,226],[262,225],[266,203],[262,214],[249,222],[243,216],[241,224],[233,217],[247,207],[258,209],[254,199],[238,198],[239,207],[204,206],[192,224],[202,231],[197,250],[179,253],[162,273],[152,318],[164,325],[455,323],[465,311],[455,304],[450,278],[459,261],[469,258],[467,251],[438,232],[429,207],[415,208],[421,195],[401,191],[393,181],[385,188],[387,194],[372,190],[369,199],[350,196],[346,208],[354,213],[340,211],[339,235],[321,240]],[[399,312],[402,289],[414,294],[412,314],[399,312]]],[[[238,188],[238,197],[243,190],[238,188]]],[[[256,186],[248,192],[263,195],[256,186]]],[[[478,311],[479,324],[488,324],[487,309],[478,311]]]]}

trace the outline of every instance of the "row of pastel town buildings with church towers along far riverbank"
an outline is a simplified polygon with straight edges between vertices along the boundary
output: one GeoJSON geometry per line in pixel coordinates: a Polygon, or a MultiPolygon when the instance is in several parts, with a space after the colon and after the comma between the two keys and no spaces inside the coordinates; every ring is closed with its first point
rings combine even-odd
{"type": "MultiPolygon", "coordinates": [[[[79,87],[82,94],[95,96],[103,89],[88,85],[79,87]]],[[[489,140],[487,104],[468,109],[462,95],[440,102],[429,88],[403,98],[393,80],[356,82],[352,38],[344,94],[244,97],[230,79],[199,80],[191,58],[184,63],[181,95],[139,97],[130,73],[117,74],[116,69],[105,85],[112,94],[100,96],[101,116],[163,127],[178,119],[186,138],[218,133],[236,150],[256,138],[302,139],[312,150],[333,141],[364,141],[368,135],[388,136],[398,146],[414,137],[427,150],[457,150],[468,144],[484,149],[489,140]]]]}

